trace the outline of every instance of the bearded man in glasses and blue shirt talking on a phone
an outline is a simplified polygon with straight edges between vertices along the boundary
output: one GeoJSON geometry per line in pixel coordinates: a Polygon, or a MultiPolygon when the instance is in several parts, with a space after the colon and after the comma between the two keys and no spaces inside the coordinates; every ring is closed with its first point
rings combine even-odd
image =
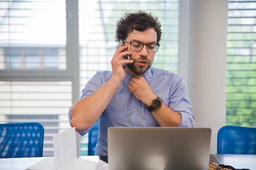
{"type": "Polygon", "coordinates": [[[108,155],[108,127],[195,126],[182,78],[151,67],[161,34],[157,17],[143,11],[126,12],[117,22],[116,40],[123,40],[124,46],[111,60],[112,72],[98,71],[70,108],[70,125],[81,135],[99,119],[95,155],[108,155]],[[126,55],[130,60],[121,60],[126,55]]]}

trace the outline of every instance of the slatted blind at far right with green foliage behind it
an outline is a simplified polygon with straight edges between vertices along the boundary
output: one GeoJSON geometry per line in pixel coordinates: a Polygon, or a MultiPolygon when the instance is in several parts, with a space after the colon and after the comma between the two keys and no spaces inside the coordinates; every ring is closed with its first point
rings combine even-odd
{"type": "Polygon", "coordinates": [[[230,0],[226,124],[256,127],[256,1],[230,0]]]}

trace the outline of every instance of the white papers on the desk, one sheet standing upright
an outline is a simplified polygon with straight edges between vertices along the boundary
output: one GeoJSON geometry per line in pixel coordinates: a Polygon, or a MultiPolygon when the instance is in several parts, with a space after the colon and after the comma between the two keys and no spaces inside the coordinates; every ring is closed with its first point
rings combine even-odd
{"type": "Polygon", "coordinates": [[[108,163],[77,158],[76,131],[70,128],[53,136],[54,157],[46,157],[25,170],[108,170],[108,163]]]}

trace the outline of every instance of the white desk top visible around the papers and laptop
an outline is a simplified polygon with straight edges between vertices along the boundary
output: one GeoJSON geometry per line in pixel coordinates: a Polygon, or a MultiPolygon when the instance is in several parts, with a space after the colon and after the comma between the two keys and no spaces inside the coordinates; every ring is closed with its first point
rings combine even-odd
{"type": "MultiPolygon", "coordinates": [[[[37,163],[45,157],[32,157],[32,158],[2,158],[0,159],[0,170],[24,170],[25,168],[37,163]]],[[[99,159],[106,161],[107,157],[99,156],[81,156],[80,158],[90,161],[98,162],[99,159]]],[[[256,170],[256,155],[219,155],[211,154],[210,163],[216,162],[218,164],[224,164],[233,166],[234,168],[242,169],[249,168],[250,170],[256,170]],[[218,162],[219,161],[219,162],[218,162]]],[[[209,164],[210,164],[209,163],[209,164]]]]}

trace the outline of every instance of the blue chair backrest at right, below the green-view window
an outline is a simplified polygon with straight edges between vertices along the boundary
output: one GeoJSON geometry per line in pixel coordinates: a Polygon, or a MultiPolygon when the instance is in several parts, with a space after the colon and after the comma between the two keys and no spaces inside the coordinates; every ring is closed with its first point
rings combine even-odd
{"type": "Polygon", "coordinates": [[[217,153],[256,155],[256,128],[223,126],[218,131],[217,153]]]}

